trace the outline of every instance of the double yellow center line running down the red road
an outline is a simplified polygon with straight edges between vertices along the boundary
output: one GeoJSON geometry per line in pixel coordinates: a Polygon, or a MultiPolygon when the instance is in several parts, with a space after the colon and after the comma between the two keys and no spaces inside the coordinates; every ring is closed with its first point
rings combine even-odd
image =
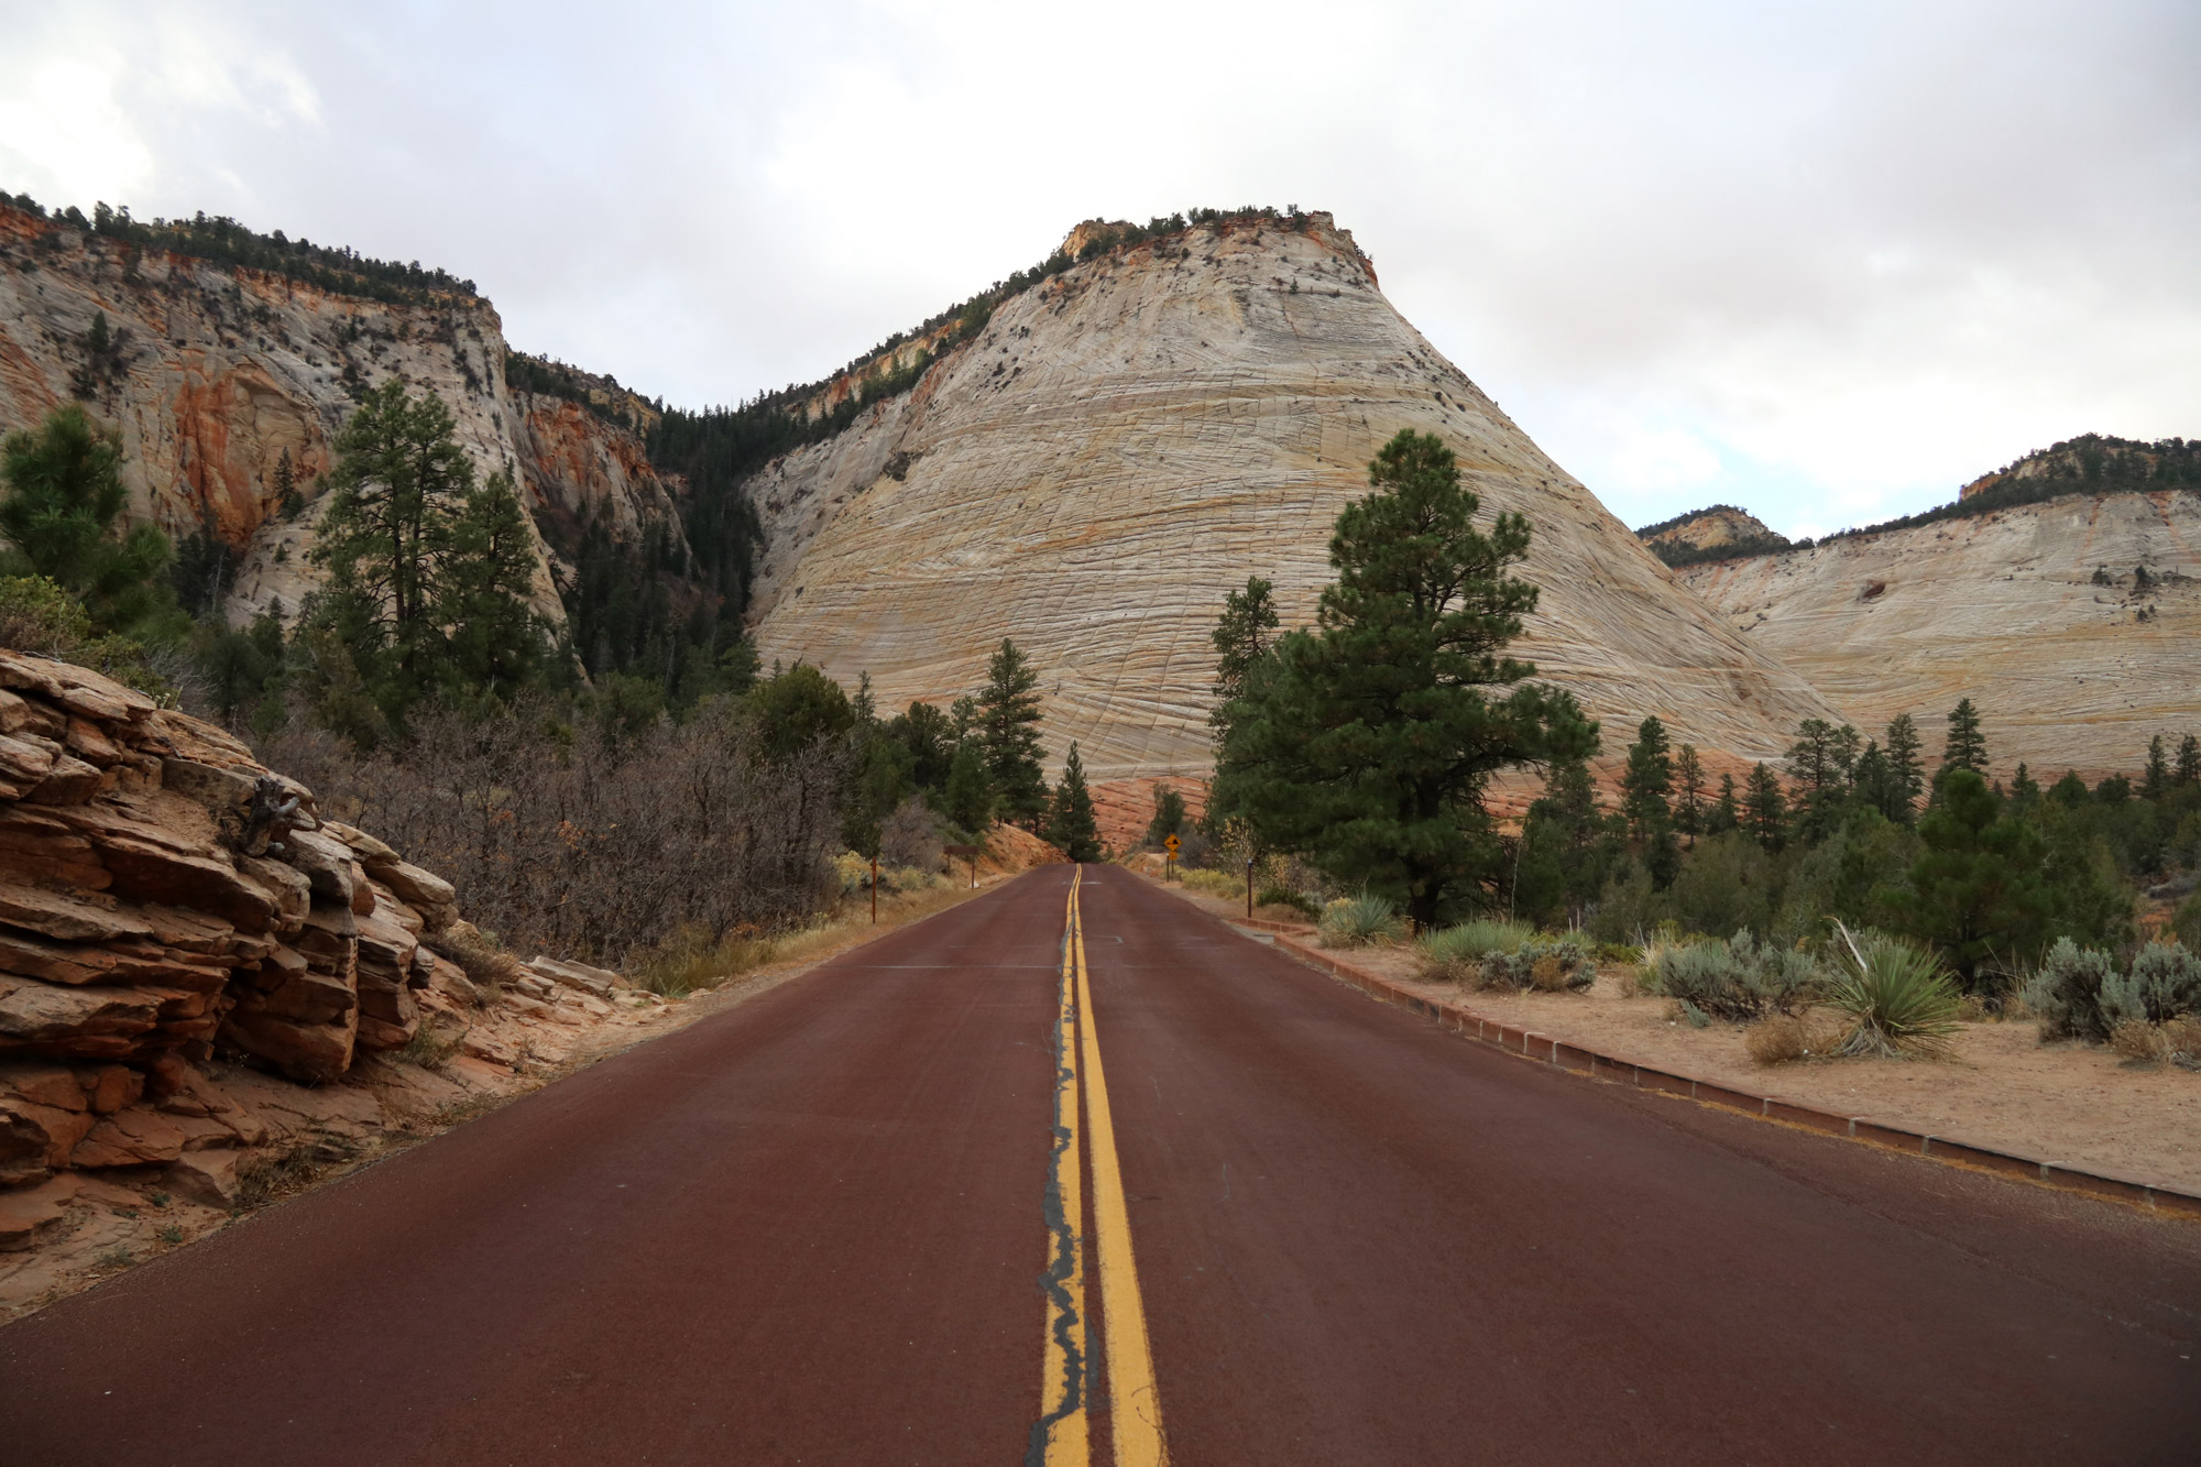
{"type": "Polygon", "coordinates": [[[1092,985],[1085,978],[1085,925],[1070,877],[1063,912],[1063,978],[1054,1015],[1054,1152],[1048,1165],[1048,1330],[1041,1363],[1041,1416],[1026,1467],[1087,1467],[1092,1430],[1092,1317],[1085,1311],[1087,1253],[1100,1278],[1103,1352],[1109,1383],[1109,1441],[1116,1467],[1164,1467],[1162,1397],[1153,1386],[1147,1306],[1131,1262],[1131,1214],[1116,1167],[1116,1126],[1100,1071],[1092,985]],[[1083,1106],[1081,1106],[1083,1101],[1083,1106]],[[1083,1108],[1083,1128],[1081,1115],[1083,1108]],[[1092,1163],[1092,1236],[1085,1236],[1085,1170],[1092,1163]]]}

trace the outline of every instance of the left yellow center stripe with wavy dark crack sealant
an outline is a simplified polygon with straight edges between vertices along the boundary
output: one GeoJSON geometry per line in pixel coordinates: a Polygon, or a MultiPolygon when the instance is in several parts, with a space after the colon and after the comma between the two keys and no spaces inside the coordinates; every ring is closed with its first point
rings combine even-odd
{"type": "Polygon", "coordinates": [[[1054,1152],[1048,1176],[1048,1330],[1039,1372],[1039,1423],[1026,1447],[1037,1467],[1087,1467],[1092,1427],[1085,1414],[1092,1383],[1092,1330],[1085,1315],[1085,1156],[1078,1145],[1078,993],[1070,934],[1076,927],[1078,877],[1063,903],[1063,982],[1054,1015],[1054,1152]]]}

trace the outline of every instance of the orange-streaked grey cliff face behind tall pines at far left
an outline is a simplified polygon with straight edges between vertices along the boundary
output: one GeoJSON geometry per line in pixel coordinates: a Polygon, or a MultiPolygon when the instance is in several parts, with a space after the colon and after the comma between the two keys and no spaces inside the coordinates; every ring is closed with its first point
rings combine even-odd
{"type": "Polygon", "coordinates": [[[317,478],[357,399],[392,377],[442,396],[480,476],[513,474],[552,623],[583,524],[678,537],[676,487],[638,436],[649,405],[533,359],[508,383],[506,359],[495,308],[467,291],[348,295],[0,203],[0,432],[70,399],[119,427],[132,515],[178,537],[211,526],[242,553],[231,619],[295,612],[313,588],[317,478]],[[306,500],[293,518],[284,463],[306,500]]]}

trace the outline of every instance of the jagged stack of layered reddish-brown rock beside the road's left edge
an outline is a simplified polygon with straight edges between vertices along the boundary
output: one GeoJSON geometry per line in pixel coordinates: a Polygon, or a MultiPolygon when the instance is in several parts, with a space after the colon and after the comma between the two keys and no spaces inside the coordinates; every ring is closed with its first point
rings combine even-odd
{"type": "Polygon", "coordinates": [[[284,1099],[299,1086],[405,1051],[462,1090],[522,1060],[524,1013],[634,998],[541,960],[508,974],[548,1000],[504,1000],[453,963],[467,934],[445,879],[321,819],[225,731],[0,650],[0,1247],[66,1211],[66,1174],[154,1170],[220,1200],[255,1148],[381,1126],[372,1097],[284,1099]]]}

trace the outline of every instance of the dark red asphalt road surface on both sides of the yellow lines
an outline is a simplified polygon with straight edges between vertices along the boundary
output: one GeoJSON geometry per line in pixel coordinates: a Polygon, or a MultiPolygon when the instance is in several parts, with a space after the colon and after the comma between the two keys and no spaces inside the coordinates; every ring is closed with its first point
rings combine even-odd
{"type": "MultiPolygon", "coordinates": [[[[1178,1467],[2201,1460],[2201,1229],[1530,1066],[1087,870],[1178,1467]]],[[[1019,1460],[1067,883],[0,1328],[0,1460],[1019,1460]]]]}

